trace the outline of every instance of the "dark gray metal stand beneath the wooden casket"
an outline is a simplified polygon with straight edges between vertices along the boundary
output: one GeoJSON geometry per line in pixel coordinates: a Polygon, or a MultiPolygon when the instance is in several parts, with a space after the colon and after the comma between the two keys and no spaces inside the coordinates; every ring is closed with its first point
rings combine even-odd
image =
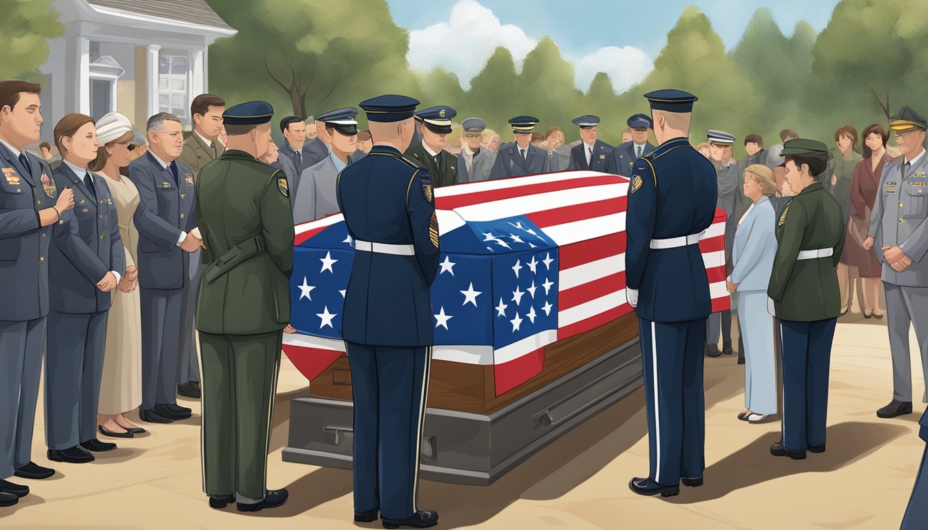
{"type": "MultiPolygon", "coordinates": [[[[419,476],[490,485],[576,425],[641,385],[638,337],[488,415],[429,407],[419,476]]],[[[287,462],[351,469],[353,403],[300,397],[290,404],[287,462]]]]}

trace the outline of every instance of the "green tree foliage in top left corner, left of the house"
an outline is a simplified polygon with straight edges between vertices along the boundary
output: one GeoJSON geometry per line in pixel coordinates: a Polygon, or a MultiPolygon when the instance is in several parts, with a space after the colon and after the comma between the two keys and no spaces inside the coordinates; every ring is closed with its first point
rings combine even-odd
{"type": "Polygon", "coordinates": [[[48,58],[48,39],[64,34],[58,12],[51,0],[8,0],[0,17],[4,59],[0,61],[0,79],[41,82],[38,68],[48,58]]]}

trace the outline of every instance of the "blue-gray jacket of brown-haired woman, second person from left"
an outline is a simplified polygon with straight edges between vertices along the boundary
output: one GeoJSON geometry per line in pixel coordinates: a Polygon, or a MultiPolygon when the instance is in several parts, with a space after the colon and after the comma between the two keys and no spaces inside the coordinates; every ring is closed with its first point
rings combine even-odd
{"type": "Polygon", "coordinates": [[[52,230],[49,305],[58,313],[106,311],[112,296],[98,290],[97,282],[111,270],[125,275],[125,250],[110,187],[105,178],[91,175],[91,193],[64,163],[52,175],[58,189],[74,191],[74,210],[68,221],[55,224],[52,230]]]}

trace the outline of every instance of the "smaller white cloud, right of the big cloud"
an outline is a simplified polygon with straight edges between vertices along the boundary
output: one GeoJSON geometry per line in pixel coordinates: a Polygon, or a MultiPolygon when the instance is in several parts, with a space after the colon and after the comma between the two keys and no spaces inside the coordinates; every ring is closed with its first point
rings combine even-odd
{"type": "Polygon", "coordinates": [[[606,46],[574,60],[577,87],[586,91],[600,71],[609,74],[612,88],[622,94],[654,70],[654,59],[633,46],[606,46]]]}

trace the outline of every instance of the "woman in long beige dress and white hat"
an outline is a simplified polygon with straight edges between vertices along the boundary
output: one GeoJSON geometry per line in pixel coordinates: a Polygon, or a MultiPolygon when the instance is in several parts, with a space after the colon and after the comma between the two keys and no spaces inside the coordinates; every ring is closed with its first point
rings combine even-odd
{"type": "Polygon", "coordinates": [[[129,165],[132,137],[128,118],[119,112],[104,115],[97,121],[100,142],[97,160],[88,168],[106,178],[110,186],[125,246],[125,276],[112,295],[97,410],[99,432],[116,438],[145,433],[145,429],[124,416],[142,402],[142,315],[135,268],[138,231],[132,220],[138,207],[138,190],[132,181],[120,175],[120,168],[129,165]]]}

